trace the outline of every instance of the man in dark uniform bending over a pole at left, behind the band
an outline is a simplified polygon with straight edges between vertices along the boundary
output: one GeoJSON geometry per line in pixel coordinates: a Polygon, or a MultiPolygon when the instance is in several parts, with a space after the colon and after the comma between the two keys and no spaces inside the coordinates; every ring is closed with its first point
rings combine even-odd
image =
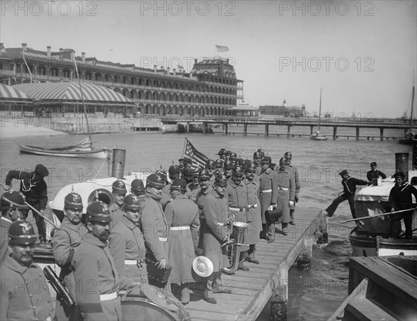
{"type": "MultiPolygon", "coordinates": [[[[44,177],[49,175],[47,167],[38,164],[33,172],[21,172],[19,170],[10,170],[6,176],[5,190],[10,188],[12,179],[20,180],[20,192],[26,198],[26,202],[33,206],[36,211],[43,214],[44,209],[48,203],[48,188],[44,177]]],[[[26,218],[27,218],[26,213],[26,218]]],[[[35,218],[36,227],[38,228],[39,240],[42,245],[47,243],[47,227],[43,216],[32,211],[35,218]]]]}

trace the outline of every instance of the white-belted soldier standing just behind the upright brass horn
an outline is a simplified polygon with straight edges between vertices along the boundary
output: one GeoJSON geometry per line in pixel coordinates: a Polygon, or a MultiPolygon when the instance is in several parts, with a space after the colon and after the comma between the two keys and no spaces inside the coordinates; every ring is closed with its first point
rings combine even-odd
{"type": "MultiPolygon", "coordinates": [[[[245,172],[243,167],[235,166],[231,174],[231,178],[227,180],[227,188],[224,197],[229,201],[229,211],[234,215],[234,220],[236,222],[247,223],[248,213],[247,213],[247,188],[245,183],[243,183],[243,176],[245,172]]],[[[247,242],[247,231],[243,238],[243,244],[247,242]]],[[[247,258],[247,250],[249,247],[242,245],[240,247],[240,258],[238,270],[249,271],[249,268],[246,268],[243,264],[243,261],[247,258]]]]}

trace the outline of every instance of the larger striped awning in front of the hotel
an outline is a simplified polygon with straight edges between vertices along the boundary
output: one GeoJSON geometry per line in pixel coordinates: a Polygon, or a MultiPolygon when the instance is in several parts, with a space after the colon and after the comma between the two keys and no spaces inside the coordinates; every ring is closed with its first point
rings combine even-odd
{"type": "MultiPolygon", "coordinates": [[[[79,84],[73,81],[63,83],[23,83],[21,85],[13,85],[13,88],[26,93],[40,104],[42,104],[42,100],[51,99],[73,101],[74,103],[76,103],[75,101],[82,101],[79,84]]],[[[92,83],[81,83],[81,88],[85,104],[94,101],[95,104],[122,103],[129,106],[136,105],[129,98],[106,87],[92,83]]]]}

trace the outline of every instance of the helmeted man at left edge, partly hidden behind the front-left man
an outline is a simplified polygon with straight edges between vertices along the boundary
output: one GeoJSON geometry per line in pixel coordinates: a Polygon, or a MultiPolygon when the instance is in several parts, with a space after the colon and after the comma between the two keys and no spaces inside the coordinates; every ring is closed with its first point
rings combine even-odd
{"type": "Polygon", "coordinates": [[[8,229],[17,220],[25,220],[28,206],[21,192],[5,192],[1,195],[0,217],[0,265],[6,261],[8,254],[8,229]]]}

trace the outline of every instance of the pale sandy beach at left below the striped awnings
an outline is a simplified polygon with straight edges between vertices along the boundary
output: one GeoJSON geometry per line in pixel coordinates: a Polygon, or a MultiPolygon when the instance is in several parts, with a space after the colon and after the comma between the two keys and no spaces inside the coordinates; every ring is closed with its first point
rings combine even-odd
{"type": "Polygon", "coordinates": [[[22,123],[17,122],[4,122],[0,124],[0,139],[5,138],[19,138],[25,136],[60,136],[69,135],[62,131],[53,131],[52,129],[46,129],[43,127],[28,125],[25,126],[22,123]]]}

